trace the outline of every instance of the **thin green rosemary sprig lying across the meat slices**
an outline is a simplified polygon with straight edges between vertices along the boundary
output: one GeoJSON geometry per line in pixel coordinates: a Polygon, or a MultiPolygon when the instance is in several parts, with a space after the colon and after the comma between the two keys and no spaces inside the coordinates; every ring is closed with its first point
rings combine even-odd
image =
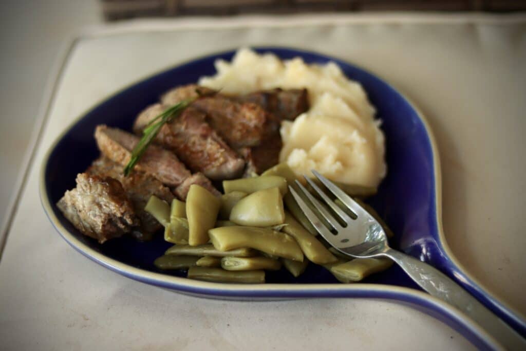
{"type": "Polygon", "coordinates": [[[194,102],[196,98],[197,97],[186,99],[174,106],[168,107],[163,113],[160,113],[146,125],[143,131],[143,136],[140,138],[139,142],[131,152],[130,161],[126,167],[124,167],[125,176],[127,176],[133,167],[135,167],[140,157],[143,156],[144,152],[148,148],[148,145],[150,145],[151,141],[153,141],[153,139],[157,136],[157,133],[159,133],[160,128],[165,123],[170,123],[174,120],[174,118],[177,118],[185,110],[185,108],[188,107],[188,105],[194,102]]]}

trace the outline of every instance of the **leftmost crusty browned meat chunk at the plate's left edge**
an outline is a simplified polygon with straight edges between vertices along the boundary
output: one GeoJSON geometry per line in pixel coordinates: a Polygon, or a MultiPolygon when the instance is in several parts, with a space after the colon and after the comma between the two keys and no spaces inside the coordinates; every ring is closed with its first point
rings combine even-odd
{"type": "Polygon", "coordinates": [[[133,205],[118,180],[93,174],[77,175],[57,207],[81,233],[99,243],[130,232],[139,224],[133,205]]]}

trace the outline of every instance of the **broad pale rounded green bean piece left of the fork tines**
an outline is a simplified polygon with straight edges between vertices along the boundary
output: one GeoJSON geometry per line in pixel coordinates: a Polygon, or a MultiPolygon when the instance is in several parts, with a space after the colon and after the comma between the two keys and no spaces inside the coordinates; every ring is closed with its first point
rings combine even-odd
{"type": "Polygon", "coordinates": [[[278,188],[259,190],[239,200],[232,208],[230,220],[239,225],[268,227],[285,220],[283,200],[278,188]]]}

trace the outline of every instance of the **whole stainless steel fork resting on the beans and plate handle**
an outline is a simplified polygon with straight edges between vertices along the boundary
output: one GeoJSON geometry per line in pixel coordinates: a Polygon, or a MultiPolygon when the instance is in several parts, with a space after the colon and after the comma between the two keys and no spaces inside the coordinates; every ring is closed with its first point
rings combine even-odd
{"type": "Polygon", "coordinates": [[[526,340],[449,277],[427,263],[390,248],[385,231],[373,216],[330,180],[316,171],[312,174],[340,200],[340,204],[307,176],[307,183],[321,201],[297,180],[298,191],[292,186],[289,190],[309,222],[330,245],[352,258],[389,257],[422,289],[467,314],[506,348],[526,349],[526,340]]]}

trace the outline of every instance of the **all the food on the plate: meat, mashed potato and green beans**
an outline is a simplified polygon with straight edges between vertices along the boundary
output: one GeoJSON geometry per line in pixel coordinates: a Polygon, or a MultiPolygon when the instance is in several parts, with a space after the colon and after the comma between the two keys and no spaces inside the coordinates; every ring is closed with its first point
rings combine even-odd
{"type": "Polygon", "coordinates": [[[316,168],[352,196],[376,193],[383,134],[361,86],[332,63],[248,49],[216,68],[146,107],[133,133],[97,126],[100,157],[57,203],[64,216],[102,245],[164,235],[174,246],[155,266],[211,282],[298,277],[311,262],[350,283],[389,267],[330,248],[288,192],[316,168]]]}

